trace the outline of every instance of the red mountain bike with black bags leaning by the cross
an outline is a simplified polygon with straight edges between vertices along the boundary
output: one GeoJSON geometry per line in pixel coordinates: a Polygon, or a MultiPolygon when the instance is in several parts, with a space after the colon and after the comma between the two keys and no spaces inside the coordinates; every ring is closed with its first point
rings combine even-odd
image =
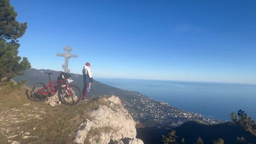
{"type": "Polygon", "coordinates": [[[69,106],[74,106],[78,104],[82,98],[81,90],[75,84],[70,84],[73,80],[70,78],[71,75],[65,72],[58,72],[60,76],[54,82],[51,81],[50,74],[46,72],[49,76],[49,85],[44,82],[36,83],[31,92],[32,98],[37,102],[44,102],[49,96],[53,96],[56,92],[60,91],[60,98],[64,104],[69,106]],[[53,84],[56,83],[54,86],[53,84]]]}

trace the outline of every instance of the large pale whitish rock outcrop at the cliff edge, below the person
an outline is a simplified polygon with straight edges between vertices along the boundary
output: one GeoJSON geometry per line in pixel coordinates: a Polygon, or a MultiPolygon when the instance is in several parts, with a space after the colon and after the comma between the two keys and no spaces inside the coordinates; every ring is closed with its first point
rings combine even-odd
{"type": "Polygon", "coordinates": [[[90,112],[90,119],[80,125],[74,143],[77,144],[143,144],[136,139],[135,122],[117,96],[103,97],[107,105],[90,112]]]}

